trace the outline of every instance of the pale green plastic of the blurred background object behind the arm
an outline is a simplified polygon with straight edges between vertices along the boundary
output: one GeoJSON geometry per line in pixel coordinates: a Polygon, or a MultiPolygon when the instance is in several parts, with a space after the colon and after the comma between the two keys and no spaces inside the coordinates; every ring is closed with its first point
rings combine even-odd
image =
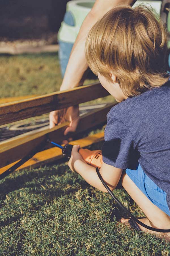
{"type": "MultiPolygon", "coordinates": [[[[70,11],[75,19],[75,26],[69,26],[64,21],[61,23],[61,27],[58,32],[58,40],[62,42],[74,43],[77,34],[80,30],[80,26],[92,9],[94,0],[74,0],[67,3],[67,11],[70,11]]],[[[138,0],[133,5],[134,7],[140,4],[150,5],[158,15],[160,15],[162,1],[142,1],[138,0]]],[[[168,16],[168,30],[170,30],[170,15],[168,16]]],[[[170,42],[168,42],[170,46],[170,42]]]]}

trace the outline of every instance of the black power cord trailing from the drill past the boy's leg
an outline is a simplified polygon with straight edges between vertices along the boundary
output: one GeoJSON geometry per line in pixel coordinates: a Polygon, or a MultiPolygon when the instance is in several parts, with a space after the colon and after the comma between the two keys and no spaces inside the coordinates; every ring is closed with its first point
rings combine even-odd
{"type": "Polygon", "coordinates": [[[111,189],[106,185],[105,181],[103,180],[100,172],[99,172],[99,168],[96,167],[96,172],[97,175],[99,176],[99,179],[101,180],[103,186],[107,189],[108,193],[111,195],[111,197],[114,199],[114,201],[116,201],[116,203],[118,203],[118,205],[124,210],[124,212],[126,212],[126,214],[128,214],[128,216],[131,217],[131,219],[133,219],[135,222],[137,222],[138,224],[140,224],[141,226],[143,226],[144,228],[147,228],[149,230],[152,231],[156,231],[156,232],[161,232],[161,233],[168,233],[170,232],[170,229],[158,229],[158,228],[152,228],[150,226],[145,225],[143,222],[141,222],[140,220],[138,220],[137,218],[135,218],[131,212],[128,211],[128,209],[126,209],[126,207],[124,207],[124,205],[122,205],[122,203],[120,203],[120,201],[115,197],[115,195],[112,193],[111,189]]]}

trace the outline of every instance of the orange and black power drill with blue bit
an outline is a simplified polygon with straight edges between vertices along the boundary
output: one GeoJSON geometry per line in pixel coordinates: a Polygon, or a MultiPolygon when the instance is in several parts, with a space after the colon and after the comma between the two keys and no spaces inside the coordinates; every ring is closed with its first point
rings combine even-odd
{"type": "MultiPolygon", "coordinates": [[[[53,141],[48,140],[48,142],[52,143],[58,148],[61,148],[63,156],[67,156],[68,158],[71,157],[71,151],[72,151],[73,145],[67,144],[65,146],[61,146],[53,141]]],[[[101,168],[101,165],[103,162],[101,150],[89,150],[87,148],[86,149],[80,148],[78,152],[82,156],[83,160],[86,161],[87,164],[90,164],[94,167],[101,168]]]]}

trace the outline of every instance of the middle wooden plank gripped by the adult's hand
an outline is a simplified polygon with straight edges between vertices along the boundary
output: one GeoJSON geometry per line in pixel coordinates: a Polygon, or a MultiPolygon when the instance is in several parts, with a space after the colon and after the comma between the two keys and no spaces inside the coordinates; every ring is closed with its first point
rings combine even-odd
{"type": "MultiPolygon", "coordinates": [[[[100,123],[106,123],[106,115],[109,110],[116,105],[116,102],[108,104],[107,106],[94,110],[80,117],[80,121],[75,134],[86,131],[100,123]]],[[[23,135],[19,135],[12,139],[0,142],[0,168],[6,166],[20,158],[23,158],[38,144],[47,139],[51,141],[61,142],[66,137],[63,132],[69,123],[63,123],[52,129],[41,128],[39,131],[31,131],[23,135]]],[[[71,134],[69,135],[71,137],[71,134]]],[[[42,149],[43,150],[43,149],[42,149]]]]}

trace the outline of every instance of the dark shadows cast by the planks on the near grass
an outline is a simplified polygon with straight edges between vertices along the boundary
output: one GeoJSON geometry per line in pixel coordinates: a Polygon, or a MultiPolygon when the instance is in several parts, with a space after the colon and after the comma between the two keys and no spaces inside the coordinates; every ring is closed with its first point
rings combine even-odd
{"type": "MultiPolygon", "coordinates": [[[[1,183],[0,186],[0,194],[1,194],[1,200],[4,201],[6,198],[6,194],[14,191],[14,190],[18,190],[21,188],[30,188],[31,189],[31,194],[35,193],[35,194],[42,194],[42,185],[44,185],[45,183],[49,183],[50,185],[54,185],[54,187],[48,187],[48,189],[45,190],[45,198],[38,202],[37,204],[32,204],[31,205],[31,209],[29,211],[28,215],[32,215],[32,212],[36,212],[39,211],[41,209],[41,207],[43,205],[49,205],[54,198],[58,198],[61,197],[63,195],[69,195],[71,193],[74,193],[75,191],[77,191],[76,188],[72,188],[70,187],[69,189],[67,189],[66,191],[63,190],[62,187],[58,187],[56,188],[56,181],[49,181],[49,177],[52,177],[54,175],[57,174],[57,176],[61,176],[65,173],[65,169],[61,168],[61,166],[59,166],[60,168],[56,169],[56,168],[48,168],[48,170],[44,170],[43,172],[29,172],[29,173],[24,173],[23,175],[19,175],[17,177],[8,177],[5,178],[4,183],[1,183]],[[49,171],[50,169],[50,171],[49,171]],[[56,173],[57,170],[57,173],[56,173]],[[40,183],[38,184],[25,184],[25,182],[31,182],[33,181],[34,178],[38,178],[38,179],[42,179],[44,178],[40,183]]],[[[71,183],[71,182],[70,182],[71,183]]],[[[72,182],[73,183],[73,182],[72,182]]],[[[3,207],[3,203],[1,204],[1,207],[3,207]]],[[[12,222],[16,222],[17,220],[20,220],[20,218],[22,216],[25,215],[25,212],[23,214],[17,214],[11,218],[7,218],[5,221],[1,221],[0,222],[0,227],[3,228],[4,226],[8,225],[9,223],[12,222]]]]}

